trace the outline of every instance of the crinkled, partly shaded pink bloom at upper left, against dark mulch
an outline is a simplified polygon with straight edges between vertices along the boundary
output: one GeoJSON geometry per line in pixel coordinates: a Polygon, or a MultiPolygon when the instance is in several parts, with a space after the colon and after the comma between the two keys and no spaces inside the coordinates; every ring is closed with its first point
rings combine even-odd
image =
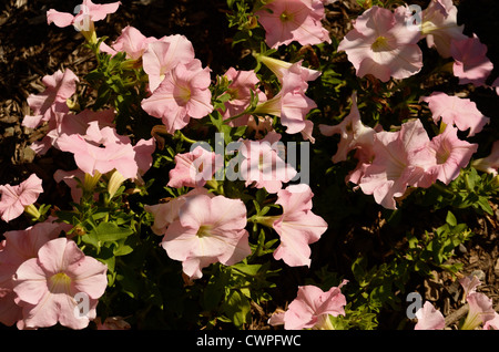
{"type": "Polygon", "coordinates": [[[69,107],[65,102],[77,91],[77,82],[79,82],[78,76],[69,69],[45,75],[42,83],[47,89],[42,93],[28,96],[28,104],[33,115],[24,116],[22,125],[35,128],[43,122],[55,118],[58,112],[68,113],[69,107]]]}

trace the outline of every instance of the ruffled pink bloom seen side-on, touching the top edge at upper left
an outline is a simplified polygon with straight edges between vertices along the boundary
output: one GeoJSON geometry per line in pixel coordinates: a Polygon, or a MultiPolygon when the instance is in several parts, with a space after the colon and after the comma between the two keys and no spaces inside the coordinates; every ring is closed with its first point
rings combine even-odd
{"type": "Polygon", "coordinates": [[[59,12],[54,9],[50,9],[47,11],[47,22],[54,23],[57,27],[64,28],[73,24],[78,29],[88,30],[81,28],[81,23],[84,23],[86,20],[96,22],[105,19],[109,13],[116,12],[121,2],[112,2],[112,3],[93,3],[91,0],[83,0],[80,6],[80,11],[77,14],[68,13],[68,12],[59,12]]]}

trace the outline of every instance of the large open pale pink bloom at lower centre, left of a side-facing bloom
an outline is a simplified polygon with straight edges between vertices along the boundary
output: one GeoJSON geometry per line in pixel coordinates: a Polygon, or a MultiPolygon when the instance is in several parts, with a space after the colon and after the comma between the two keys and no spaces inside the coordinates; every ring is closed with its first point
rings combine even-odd
{"type": "Polygon", "coordinates": [[[161,246],[170,258],[182,261],[186,276],[198,279],[211,263],[232,266],[251,255],[246,222],[241,199],[192,196],[166,229],[161,246]]]}

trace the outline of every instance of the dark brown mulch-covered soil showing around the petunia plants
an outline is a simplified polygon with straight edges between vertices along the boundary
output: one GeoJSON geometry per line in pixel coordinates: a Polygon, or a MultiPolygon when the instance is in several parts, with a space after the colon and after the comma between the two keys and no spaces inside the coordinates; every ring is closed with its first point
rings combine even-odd
{"type": "MultiPolygon", "coordinates": [[[[29,130],[21,126],[24,115],[30,114],[27,103],[29,94],[43,91],[41,79],[59,69],[69,68],[82,76],[93,65],[92,55],[80,49],[83,42],[80,33],[72,28],[60,29],[47,24],[47,10],[72,12],[81,1],[67,0],[10,0],[0,6],[0,184],[19,184],[31,173],[43,179],[44,193],[39,199],[43,204],[62,205],[68,199],[68,190],[57,185],[52,178],[58,168],[68,168],[71,159],[51,151],[44,156],[35,156],[28,147],[43,135],[43,128],[29,130]]],[[[111,1],[96,1],[111,2],[111,1]]],[[[161,38],[170,34],[185,34],[193,42],[196,56],[210,65],[214,72],[228,69],[242,53],[231,48],[231,33],[227,30],[224,0],[122,0],[119,11],[106,21],[95,23],[100,35],[114,39],[125,25],[134,25],[145,35],[161,38]]],[[[340,1],[328,11],[327,25],[333,35],[340,38],[349,30],[349,15],[358,13],[355,1],[340,1]],[[357,12],[356,12],[357,11],[357,12]]],[[[428,1],[411,1],[426,7],[428,1]]],[[[489,48],[488,56],[495,64],[491,80],[499,75],[499,2],[496,0],[455,1],[459,9],[459,21],[465,24],[466,34],[477,33],[489,48]]],[[[491,83],[491,82],[489,82],[491,83]]],[[[481,90],[471,93],[480,111],[499,118],[498,100],[491,100],[481,90]]],[[[497,138],[497,134],[495,136],[497,138]]],[[[456,252],[454,260],[464,265],[462,275],[476,273],[483,284],[480,290],[499,303],[499,208],[495,216],[470,219],[469,226],[476,236],[456,252]]],[[[24,228],[22,219],[9,224],[0,221],[0,234],[24,228]]],[[[359,237],[345,235],[345,247],[376,247],[371,236],[383,228],[383,224],[364,226],[365,234],[359,237]]],[[[349,229],[345,229],[348,234],[349,229]]],[[[325,248],[327,244],[325,244],[325,248]]],[[[386,253],[378,248],[378,257],[386,253]]],[[[446,315],[459,319],[459,303],[455,299],[458,287],[448,273],[435,272],[432,280],[421,280],[416,284],[426,299],[434,301],[446,315]],[[452,315],[454,314],[454,315],[452,315]]],[[[285,302],[282,302],[285,304],[285,302]]],[[[272,311],[261,311],[262,322],[272,311]]],[[[387,317],[387,327],[397,327],[396,317],[387,317]],[[390,321],[390,320],[394,321],[390,321]]],[[[255,321],[252,329],[263,327],[255,321]]]]}

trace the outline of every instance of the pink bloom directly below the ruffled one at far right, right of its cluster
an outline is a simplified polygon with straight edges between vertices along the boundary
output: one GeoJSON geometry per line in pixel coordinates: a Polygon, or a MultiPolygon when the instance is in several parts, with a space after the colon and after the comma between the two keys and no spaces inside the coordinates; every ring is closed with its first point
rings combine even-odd
{"type": "Polygon", "coordinates": [[[478,149],[478,144],[459,139],[457,133],[456,127],[447,126],[444,133],[434,137],[428,145],[431,153],[435,153],[436,165],[431,167],[431,172],[446,185],[459,176],[461,168],[468,165],[478,149]]]}

